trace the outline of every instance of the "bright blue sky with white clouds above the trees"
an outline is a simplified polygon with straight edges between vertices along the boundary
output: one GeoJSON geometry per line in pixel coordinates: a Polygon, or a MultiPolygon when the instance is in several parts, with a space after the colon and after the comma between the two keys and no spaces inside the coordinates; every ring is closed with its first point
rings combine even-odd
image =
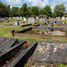
{"type": "Polygon", "coordinates": [[[67,0],[0,0],[3,3],[9,4],[12,6],[21,7],[24,3],[27,3],[28,6],[38,6],[45,7],[45,5],[50,5],[53,9],[57,4],[64,4],[67,9],[67,0]]]}

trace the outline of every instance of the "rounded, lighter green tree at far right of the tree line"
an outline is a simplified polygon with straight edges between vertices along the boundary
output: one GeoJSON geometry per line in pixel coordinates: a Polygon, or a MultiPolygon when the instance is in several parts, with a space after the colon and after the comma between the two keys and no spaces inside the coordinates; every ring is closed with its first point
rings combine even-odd
{"type": "Polygon", "coordinates": [[[57,17],[62,17],[65,13],[65,7],[63,4],[58,4],[55,6],[54,13],[57,17]]]}

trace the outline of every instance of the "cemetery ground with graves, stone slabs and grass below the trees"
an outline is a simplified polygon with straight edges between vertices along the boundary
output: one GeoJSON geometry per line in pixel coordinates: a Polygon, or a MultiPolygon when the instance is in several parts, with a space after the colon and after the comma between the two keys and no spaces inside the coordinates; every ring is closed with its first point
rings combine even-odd
{"type": "Polygon", "coordinates": [[[55,19],[28,21],[11,18],[0,23],[0,66],[67,66],[67,24],[55,19]]]}

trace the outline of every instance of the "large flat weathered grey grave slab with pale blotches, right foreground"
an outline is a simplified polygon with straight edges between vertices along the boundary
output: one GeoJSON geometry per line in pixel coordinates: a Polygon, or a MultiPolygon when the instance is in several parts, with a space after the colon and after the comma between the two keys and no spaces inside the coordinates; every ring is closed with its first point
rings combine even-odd
{"type": "Polygon", "coordinates": [[[45,63],[67,64],[67,43],[39,43],[32,55],[31,62],[35,67],[45,63]]]}

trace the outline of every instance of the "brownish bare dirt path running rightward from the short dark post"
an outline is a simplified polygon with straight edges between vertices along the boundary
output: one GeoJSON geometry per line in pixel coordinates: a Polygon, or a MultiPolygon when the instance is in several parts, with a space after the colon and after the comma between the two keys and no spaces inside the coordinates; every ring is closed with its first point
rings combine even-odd
{"type": "Polygon", "coordinates": [[[17,37],[26,37],[26,38],[34,38],[34,39],[53,39],[53,40],[67,40],[67,36],[48,36],[45,34],[26,34],[26,33],[15,33],[17,37]]]}

